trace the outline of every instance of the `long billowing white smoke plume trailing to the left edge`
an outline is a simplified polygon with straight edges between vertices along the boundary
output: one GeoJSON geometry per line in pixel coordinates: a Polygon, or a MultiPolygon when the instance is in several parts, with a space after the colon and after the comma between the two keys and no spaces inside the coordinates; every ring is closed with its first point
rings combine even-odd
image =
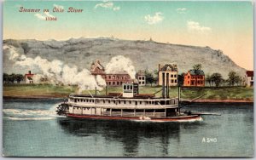
{"type": "Polygon", "coordinates": [[[63,85],[78,85],[79,93],[87,89],[103,89],[106,85],[102,77],[94,77],[90,71],[83,69],[79,71],[77,66],[67,66],[61,60],[46,60],[37,56],[36,58],[26,57],[19,54],[13,46],[3,46],[4,53],[9,60],[15,61],[15,66],[37,68],[42,74],[37,74],[35,82],[44,77],[50,83],[63,85]]]}

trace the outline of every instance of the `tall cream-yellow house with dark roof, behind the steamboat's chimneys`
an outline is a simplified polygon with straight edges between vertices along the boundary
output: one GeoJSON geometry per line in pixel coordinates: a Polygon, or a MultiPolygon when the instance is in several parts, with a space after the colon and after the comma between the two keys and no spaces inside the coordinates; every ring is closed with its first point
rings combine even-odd
{"type": "Polygon", "coordinates": [[[176,64],[166,64],[160,65],[158,68],[158,85],[163,84],[163,78],[169,80],[169,86],[177,86],[177,65],[176,64]],[[164,76],[164,77],[163,77],[164,76]]]}

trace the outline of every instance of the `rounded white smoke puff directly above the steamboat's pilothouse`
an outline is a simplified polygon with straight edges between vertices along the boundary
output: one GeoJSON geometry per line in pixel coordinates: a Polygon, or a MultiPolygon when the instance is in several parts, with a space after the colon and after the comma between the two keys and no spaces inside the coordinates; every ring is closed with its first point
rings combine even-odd
{"type": "Polygon", "coordinates": [[[135,79],[135,67],[129,58],[123,55],[113,57],[106,66],[106,73],[128,73],[131,79],[135,79]]]}

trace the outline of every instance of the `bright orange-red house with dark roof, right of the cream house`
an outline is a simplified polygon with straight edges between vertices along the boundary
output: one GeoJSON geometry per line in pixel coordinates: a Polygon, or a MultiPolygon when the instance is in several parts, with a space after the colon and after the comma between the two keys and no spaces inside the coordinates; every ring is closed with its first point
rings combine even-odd
{"type": "Polygon", "coordinates": [[[204,87],[205,86],[204,71],[189,70],[188,73],[184,75],[183,86],[204,87]]]}

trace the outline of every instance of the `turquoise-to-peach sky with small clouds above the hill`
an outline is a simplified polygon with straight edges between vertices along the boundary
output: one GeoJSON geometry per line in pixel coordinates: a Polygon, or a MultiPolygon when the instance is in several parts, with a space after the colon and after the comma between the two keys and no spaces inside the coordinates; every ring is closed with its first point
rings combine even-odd
{"type": "Polygon", "coordinates": [[[3,3],[3,39],[116,37],[220,49],[253,70],[252,2],[10,1],[3,3]],[[20,12],[41,9],[38,13],[20,12]],[[67,13],[69,8],[83,9],[67,13]],[[63,13],[53,9],[64,9],[63,13]],[[49,12],[44,13],[44,9],[49,12]],[[45,20],[45,17],[56,20],[45,20]]]}

